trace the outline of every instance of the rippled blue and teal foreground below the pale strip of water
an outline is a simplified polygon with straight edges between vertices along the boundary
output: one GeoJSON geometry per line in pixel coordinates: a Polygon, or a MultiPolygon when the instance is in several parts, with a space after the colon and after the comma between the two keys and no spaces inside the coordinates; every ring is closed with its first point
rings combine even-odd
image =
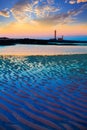
{"type": "Polygon", "coordinates": [[[0,56],[0,130],[87,130],[87,54],[0,56]]]}

